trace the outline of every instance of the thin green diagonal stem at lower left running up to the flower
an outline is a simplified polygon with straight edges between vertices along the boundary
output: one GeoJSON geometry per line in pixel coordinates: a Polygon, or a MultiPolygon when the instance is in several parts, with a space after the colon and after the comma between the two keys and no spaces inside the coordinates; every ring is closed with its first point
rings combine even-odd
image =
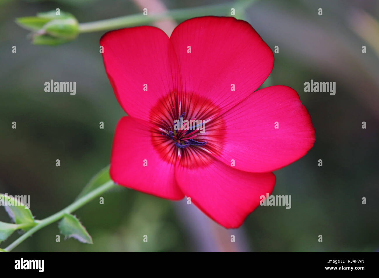
{"type": "Polygon", "coordinates": [[[8,247],[6,247],[4,250],[6,252],[9,252],[13,250],[17,245],[19,245],[21,242],[23,242],[25,239],[27,239],[29,236],[33,235],[36,231],[42,229],[43,227],[52,224],[55,221],[58,221],[61,219],[65,213],[71,213],[72,211],[77,210],[78,208],[82,207],[92,199],[96,198],[100,194],[104,193],[105,191],[108,191],[111,189],[114,185],[113,181],[110,180],[103,185],[99,186],[98,188],[94,189],[93,191],[87,193],[85,196],[81,197],[80,199],[76,200],[74,203],[69,205],[68,207],[64,208],[63,210],[53,214],[52,216],[49,216],[45,219],[42,219],[41,221],[38,221],[38,224],[31,228],[29,231],[24,233],[22,236],[20,236],[18,239],[16,239],[14,242],[12,242],[8,247]]]}

